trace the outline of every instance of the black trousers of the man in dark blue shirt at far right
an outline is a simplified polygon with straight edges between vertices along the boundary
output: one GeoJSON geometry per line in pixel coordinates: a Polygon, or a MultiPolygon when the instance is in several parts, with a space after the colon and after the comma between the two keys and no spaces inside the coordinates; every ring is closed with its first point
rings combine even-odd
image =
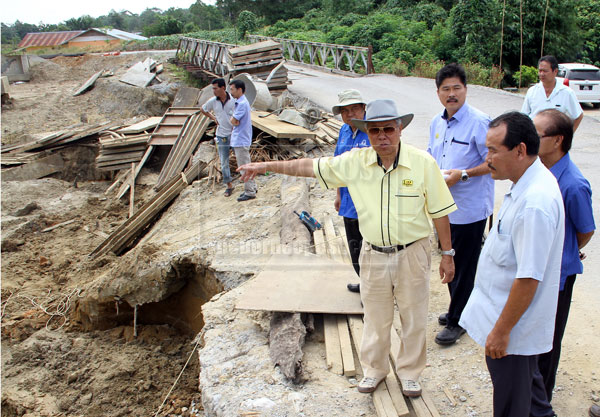
{"type": "Polygon", "coordinates": [[[562,343],[563,335],[565,334],[565,327],[567,327],[567,319],[569,318],[575,276],[576,275],[569,275],[565,282],[565,288],[558,292],[558,306],[556,309],[556,321],[554,323],[554,341],[552,342],[552,350],[548,353],[541,354],[538,361],[540,373],[542,374],[542,378],[544,378],[544,386],[546,387],[548,401],[552,401],[552,390],[556,383],[556,371],[558,370],[558,361],[560,360],[560,345],[562,343]]]}

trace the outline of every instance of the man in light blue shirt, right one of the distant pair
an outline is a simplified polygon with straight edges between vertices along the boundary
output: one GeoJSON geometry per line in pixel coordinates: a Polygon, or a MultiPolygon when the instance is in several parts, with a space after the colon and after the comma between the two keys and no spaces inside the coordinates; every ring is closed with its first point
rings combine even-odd
{"type": "MultiPolygon", "coordinates": [[[[231,95],[235,98],[235,110],[231,116],[233,131],[231,132],[231,147],[235,152],[237,165],[250,163],[250,145],[252,144],[252,120],[250,119],[250,103],[246,99],[246,84],[242,80],[233,80],[229,83],[231,95]]],[[[244,192],[238,201],[247,201],[256,198],[256,183],[248,180],[244,183],[244,192]]]]}

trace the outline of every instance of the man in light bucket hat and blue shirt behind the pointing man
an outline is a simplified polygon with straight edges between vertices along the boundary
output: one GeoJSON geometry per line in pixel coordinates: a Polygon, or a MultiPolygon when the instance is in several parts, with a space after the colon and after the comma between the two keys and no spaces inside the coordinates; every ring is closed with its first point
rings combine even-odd
{"type": "MultiPolygon", "coordinates": [[[[352,123],[352,119],[365,118],[365,102],[360,92],[357,90],[344,90],[338,94],[339,103],[333,106],[332,112],[335,115],[341,115],[344,125],[340,129],[338,142],[335,147],[334,156],[341,155],[353,148],[366,148],[371,146],[369,137],[361,130],[358,130],[352,123]]],[[[340,187],[337,189],[335,198],[335,210],[344,218],[344,228],[346,229],[346,239],[348,240],[348,249],[352,266],[356,274],[360,276],[360,266],[358,258],[362,246],[362,235],[358,228],[358,215],[356,208],[348,192],[348,188],[340,187]]],[[[352,292],[360,292],[360,284],[348,284],[348,289],[352,292]]]]}

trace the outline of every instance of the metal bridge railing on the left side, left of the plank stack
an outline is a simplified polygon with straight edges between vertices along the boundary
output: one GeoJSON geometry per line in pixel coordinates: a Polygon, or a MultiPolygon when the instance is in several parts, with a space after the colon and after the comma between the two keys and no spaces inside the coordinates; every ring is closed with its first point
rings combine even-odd
{"type": "Polygon", "coordinates": [[[227,50],[237,45],[181,36],[175,57],[177,61],[193,65],[216,76],[224,76],[227,68],[227,50]]]}

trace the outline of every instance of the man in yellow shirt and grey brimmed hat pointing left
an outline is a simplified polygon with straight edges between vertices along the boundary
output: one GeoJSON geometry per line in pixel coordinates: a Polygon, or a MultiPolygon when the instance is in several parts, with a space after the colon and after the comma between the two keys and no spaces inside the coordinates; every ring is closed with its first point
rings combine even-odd
{"type": "Polygon", "coordinates": [[[364,332],[360,392],[373,392],[389,372],[394,300],[402,322],[396,373],[407,396],[421,395],[431,265],[430,219],[442,246],[440,277],[454,278],[448,214],[456,210],[452,195],[431,155],[402,144],[400,135],[412,120],[400,116],[392,100],[367,105],[364,120],[353,124],[367,132],[370,148],[336,157],[242,165],[242,180],[266,171],[316,177],[324,188],[348,187],[363,235],[360,255],[364,332]]]}

